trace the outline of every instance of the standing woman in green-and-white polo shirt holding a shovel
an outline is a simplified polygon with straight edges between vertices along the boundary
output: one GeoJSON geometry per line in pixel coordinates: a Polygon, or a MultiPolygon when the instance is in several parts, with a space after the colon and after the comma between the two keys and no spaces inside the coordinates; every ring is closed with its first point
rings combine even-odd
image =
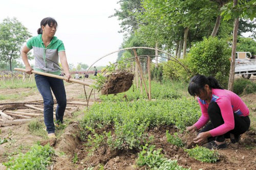
{"type": "MultiPolygon", "coordinates": [[[[35,57],[36,71],[47,72],[54,75],[61,75],[59,60],[66,75],[66,81],[69,82],[70,71],[66,58],[65,47],[61,40],[55,37],[57,22],[51,17],[41,20],[40,28],[37,30],[38,35],[28,40],[27,45],[22,49],[21,55],[26,66],[27,74],[32,74],[33,68],[28,61],[28,52],[33,48],[35,57]]],[[[55,138],[55,126],[53,120],[53,96],[51,89],[57,101],[56,123],[63,123],[63,115],[67,105],[66,91],[63,80],[35,75],[37,89],[44,99],[44,119],[46,130],[50,138],[55,138]]]]}

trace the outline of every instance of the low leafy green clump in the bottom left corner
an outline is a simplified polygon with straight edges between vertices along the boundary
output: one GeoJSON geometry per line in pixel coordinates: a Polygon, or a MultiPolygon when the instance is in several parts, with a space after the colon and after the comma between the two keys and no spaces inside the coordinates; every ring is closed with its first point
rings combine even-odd
{"type": "Polygon", "coordinates": [[[54,150],[49,144],[42,147],[33,145],[26,154],[19,153],[18,157],[3,163],[8,169],[47,169],[54,150]]]}

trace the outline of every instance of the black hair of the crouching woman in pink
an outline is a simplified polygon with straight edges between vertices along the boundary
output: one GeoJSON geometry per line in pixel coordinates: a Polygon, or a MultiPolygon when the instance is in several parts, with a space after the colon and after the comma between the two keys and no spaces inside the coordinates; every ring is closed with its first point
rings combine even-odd
{"type": "Polygon", "coordinates": [[[211,88],[223,89],[214,77],[211,77],[211,76],[205,77],[203,75],[196,75],[190,79],[187,90],[190,95],[195,96],[197,94],[200,94],[201,90],[204,90],[204,86],[206,84],[209,85],[210,89],[211,88]]]}

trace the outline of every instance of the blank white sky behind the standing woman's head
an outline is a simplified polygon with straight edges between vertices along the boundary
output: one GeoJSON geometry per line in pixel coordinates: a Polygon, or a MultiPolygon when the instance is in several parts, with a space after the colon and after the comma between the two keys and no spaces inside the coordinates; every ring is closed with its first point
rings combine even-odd
{"type": "MultiPolygon", "coordinates": [[[[119,9],[118,0],[59,1],[59,0],[6,0],[0,4],[0,22],[7,17],[16,17],[37,35],[40,21],[53,17],[58,22],[58,39],[62,40],[68,63],[78,62],[89,66],[102,56],[117,51],[123,35],[117,17],[109,18],[114,9],[119,9]]],[[[117,53],[100,60],[95,65],[115,62],[117,53]]],[[[31,62],[33,63],[33,61],[31,62]]]]}

